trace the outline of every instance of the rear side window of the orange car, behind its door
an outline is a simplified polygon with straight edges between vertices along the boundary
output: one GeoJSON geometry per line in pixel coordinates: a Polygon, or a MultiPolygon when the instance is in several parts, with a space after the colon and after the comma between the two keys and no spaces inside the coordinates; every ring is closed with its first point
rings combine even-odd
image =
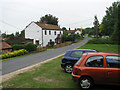
{"type": "Polygon", "coordinates": [[[103,56],[91,56],[87,59],[85,66],[87,67],[103,67],[103,56]]]}

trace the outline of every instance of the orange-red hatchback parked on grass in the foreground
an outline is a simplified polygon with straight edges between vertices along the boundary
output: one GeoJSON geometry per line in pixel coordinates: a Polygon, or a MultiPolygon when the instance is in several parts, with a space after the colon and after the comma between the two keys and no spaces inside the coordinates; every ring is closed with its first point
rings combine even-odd
{"type": "Polygon", "coordinates": [[[120,85],[120,54],[85,53],[75,64],[72,78],[82,89],[94,84],[120,85]]]}

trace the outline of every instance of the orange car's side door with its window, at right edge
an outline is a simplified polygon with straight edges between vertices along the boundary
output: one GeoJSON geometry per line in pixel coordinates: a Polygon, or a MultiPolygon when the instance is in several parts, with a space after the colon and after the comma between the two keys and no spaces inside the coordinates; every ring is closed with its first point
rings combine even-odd
{"type": "Polygon", "coordinates": [[[120,84],[120,57],[106,56],[106,81],[111,84],[120,84]]]}

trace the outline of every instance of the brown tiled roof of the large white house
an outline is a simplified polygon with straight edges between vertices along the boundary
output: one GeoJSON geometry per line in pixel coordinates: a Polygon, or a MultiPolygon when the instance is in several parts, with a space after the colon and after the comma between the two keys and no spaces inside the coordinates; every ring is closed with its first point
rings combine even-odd
{"type": "Polygon", "coordinates": [[[46,30],[62,30],[60,27],[57,25],[52,25],[52,24],[44,24],[40,22],[35,22],[38,26],[40,26],[42,29],[46,30]]]}

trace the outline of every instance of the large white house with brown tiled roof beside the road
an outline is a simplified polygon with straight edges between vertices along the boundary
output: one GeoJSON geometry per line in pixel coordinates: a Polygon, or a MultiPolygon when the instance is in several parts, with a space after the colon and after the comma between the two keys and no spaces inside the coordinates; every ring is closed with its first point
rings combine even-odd
{"type": "Polygon", "coordinates": [[[46,46],[50,41],[61,43],[62,34],[60,27],[46,23],[31,22],[25,28],[25,39],[33,39],[33,43],[40,46],[46,46]]]}

